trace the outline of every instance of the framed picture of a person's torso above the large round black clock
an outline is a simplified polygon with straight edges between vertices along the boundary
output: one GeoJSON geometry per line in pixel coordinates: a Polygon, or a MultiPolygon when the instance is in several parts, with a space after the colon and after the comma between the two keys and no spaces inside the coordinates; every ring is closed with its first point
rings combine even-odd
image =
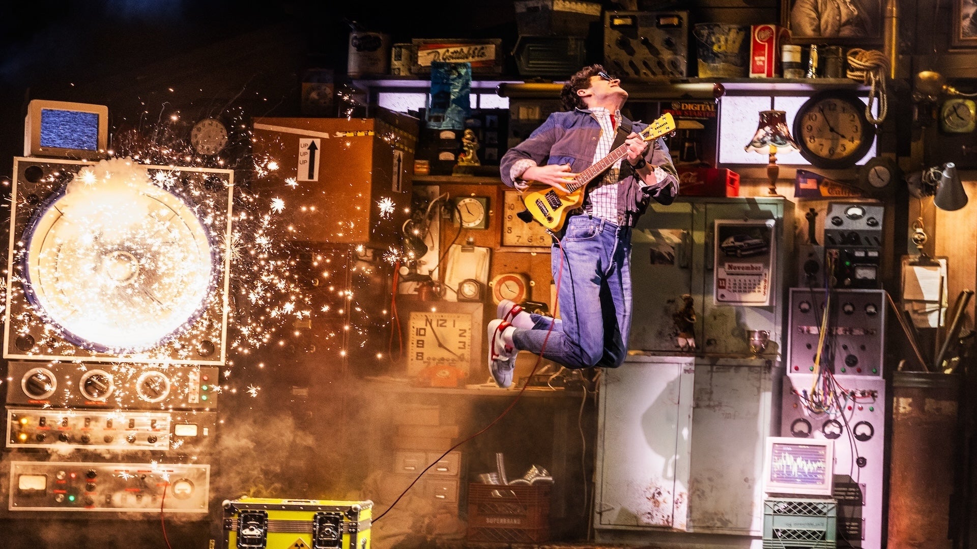
{"type": "Polygon", "coordinates": [[[790,31],[794,44],[881,44],[883,1],[782,0],[781,24],[790,31]]]}

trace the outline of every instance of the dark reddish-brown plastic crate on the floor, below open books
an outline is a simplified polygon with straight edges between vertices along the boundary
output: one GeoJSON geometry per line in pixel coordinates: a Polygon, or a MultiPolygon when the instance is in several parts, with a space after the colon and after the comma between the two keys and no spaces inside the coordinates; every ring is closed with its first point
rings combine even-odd
{"type": "Polygon", "coordinates": [[[549,540],[550,485],[468,485],[468,539],[549,540]]]}

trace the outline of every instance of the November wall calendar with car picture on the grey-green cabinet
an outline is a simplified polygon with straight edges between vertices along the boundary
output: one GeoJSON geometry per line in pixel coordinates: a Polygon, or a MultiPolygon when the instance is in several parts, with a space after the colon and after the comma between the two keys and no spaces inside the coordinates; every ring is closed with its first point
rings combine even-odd
{"type": "Polygon", "coordinates": [[[713,302],[770,305],[777,237],[776,221],[716,220],[713,302]]]}

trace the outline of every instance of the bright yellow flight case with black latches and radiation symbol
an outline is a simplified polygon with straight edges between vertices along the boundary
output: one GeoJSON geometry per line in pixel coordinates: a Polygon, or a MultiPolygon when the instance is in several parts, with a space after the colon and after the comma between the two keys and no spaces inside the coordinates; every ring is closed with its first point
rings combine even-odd
{"type": "Polygon", "coordinates": [[[370,549],[373,502],[242,497],[224,502],[226,549],[370,549]]]}

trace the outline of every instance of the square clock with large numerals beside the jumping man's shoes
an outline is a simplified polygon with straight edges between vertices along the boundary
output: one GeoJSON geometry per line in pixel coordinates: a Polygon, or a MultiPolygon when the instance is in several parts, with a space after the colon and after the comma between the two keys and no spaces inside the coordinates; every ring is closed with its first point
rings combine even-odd
{"type": "Polygon", "coordinates": [[[482,303],[423,302],[407,317],[406,366],[417,375],[429,366],[454,366],[468,374],[483,365],[482,303]]]}

